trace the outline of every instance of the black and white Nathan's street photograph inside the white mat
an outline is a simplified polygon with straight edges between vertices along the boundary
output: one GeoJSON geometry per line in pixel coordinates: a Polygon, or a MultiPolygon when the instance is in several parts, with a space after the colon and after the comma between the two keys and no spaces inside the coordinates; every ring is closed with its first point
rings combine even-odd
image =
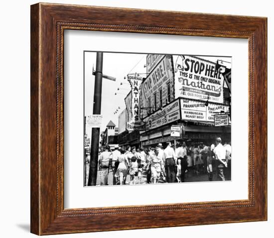
{"type": "Polygon", "coordinates": [[[231,181],[231,68],[84,51],[84,186],[231,181]]]}

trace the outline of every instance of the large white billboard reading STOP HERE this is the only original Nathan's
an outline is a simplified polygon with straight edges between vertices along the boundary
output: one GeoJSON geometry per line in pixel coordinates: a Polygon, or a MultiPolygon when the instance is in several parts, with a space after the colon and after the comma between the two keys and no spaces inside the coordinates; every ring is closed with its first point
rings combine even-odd
{"type": "Polygon", "coordinates": [[[173,55],[175,98],[223,103],[223,68],[195,56],[173,55]]]}

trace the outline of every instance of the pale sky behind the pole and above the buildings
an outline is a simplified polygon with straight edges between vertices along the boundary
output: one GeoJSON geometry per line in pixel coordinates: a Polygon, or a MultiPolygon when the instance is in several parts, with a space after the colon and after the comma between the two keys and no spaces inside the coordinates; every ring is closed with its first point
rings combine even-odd
{"type": "MultiPolygon", "coordinates": [[[[217,59],[231,62],[230,57],[199,57],[213,62],[216,62],[217,59]]],[[[106,125],[110,120],[118,127],[119,115],[126,108],[124,99],[131,90],[129,82],[127,79],[124,79],[124,77],[127,77],[130,73],[146,73],[145,64],[146,54],[103,53],[103,74],[115,77],[116,81],[103,78],[101,104],[103,122],[100,132],[106,129],[106,125]],[[120,88],[119,91],[118,88],[120,88]],[[115,93],[117,93],[117,95],[115,95],[115,93]],[[114,114],[116,110],[118,110],[118,112],[114,114]]],[[[231,68],[231,63],[224,62],[224,65],[231,68]]],[[[96,69],[96,52],[85,52],[85,116],[93,114],[95,81],[95,76],[92,75],[93,67],[96,69]]],[[[86,133],[88,135],[91,134],[91,127],[86,127],[86,133]]]]}

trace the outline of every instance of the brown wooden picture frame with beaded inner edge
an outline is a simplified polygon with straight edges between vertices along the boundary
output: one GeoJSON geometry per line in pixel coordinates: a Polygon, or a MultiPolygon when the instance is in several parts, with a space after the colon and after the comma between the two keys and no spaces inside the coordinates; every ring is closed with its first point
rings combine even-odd
{"type": "Polygon", "coordinates": [[[37,3],[31,5],[30,25],[32,233],[50,235],[267,220],[267,18],[37,3]],[[65,29],[248,39],[248,199],[64,209],[65,29]]]}

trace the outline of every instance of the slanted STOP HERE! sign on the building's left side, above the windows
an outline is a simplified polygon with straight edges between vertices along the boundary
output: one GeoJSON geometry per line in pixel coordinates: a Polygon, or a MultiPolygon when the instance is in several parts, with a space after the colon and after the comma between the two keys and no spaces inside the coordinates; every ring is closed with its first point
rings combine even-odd
{"type": "Polygon", "coordinates": [[[158,92],[163,83],[172,76],[171,55],[165,55],[143,81],[141,85],[142,97],[147,99],[158,92]]]}

